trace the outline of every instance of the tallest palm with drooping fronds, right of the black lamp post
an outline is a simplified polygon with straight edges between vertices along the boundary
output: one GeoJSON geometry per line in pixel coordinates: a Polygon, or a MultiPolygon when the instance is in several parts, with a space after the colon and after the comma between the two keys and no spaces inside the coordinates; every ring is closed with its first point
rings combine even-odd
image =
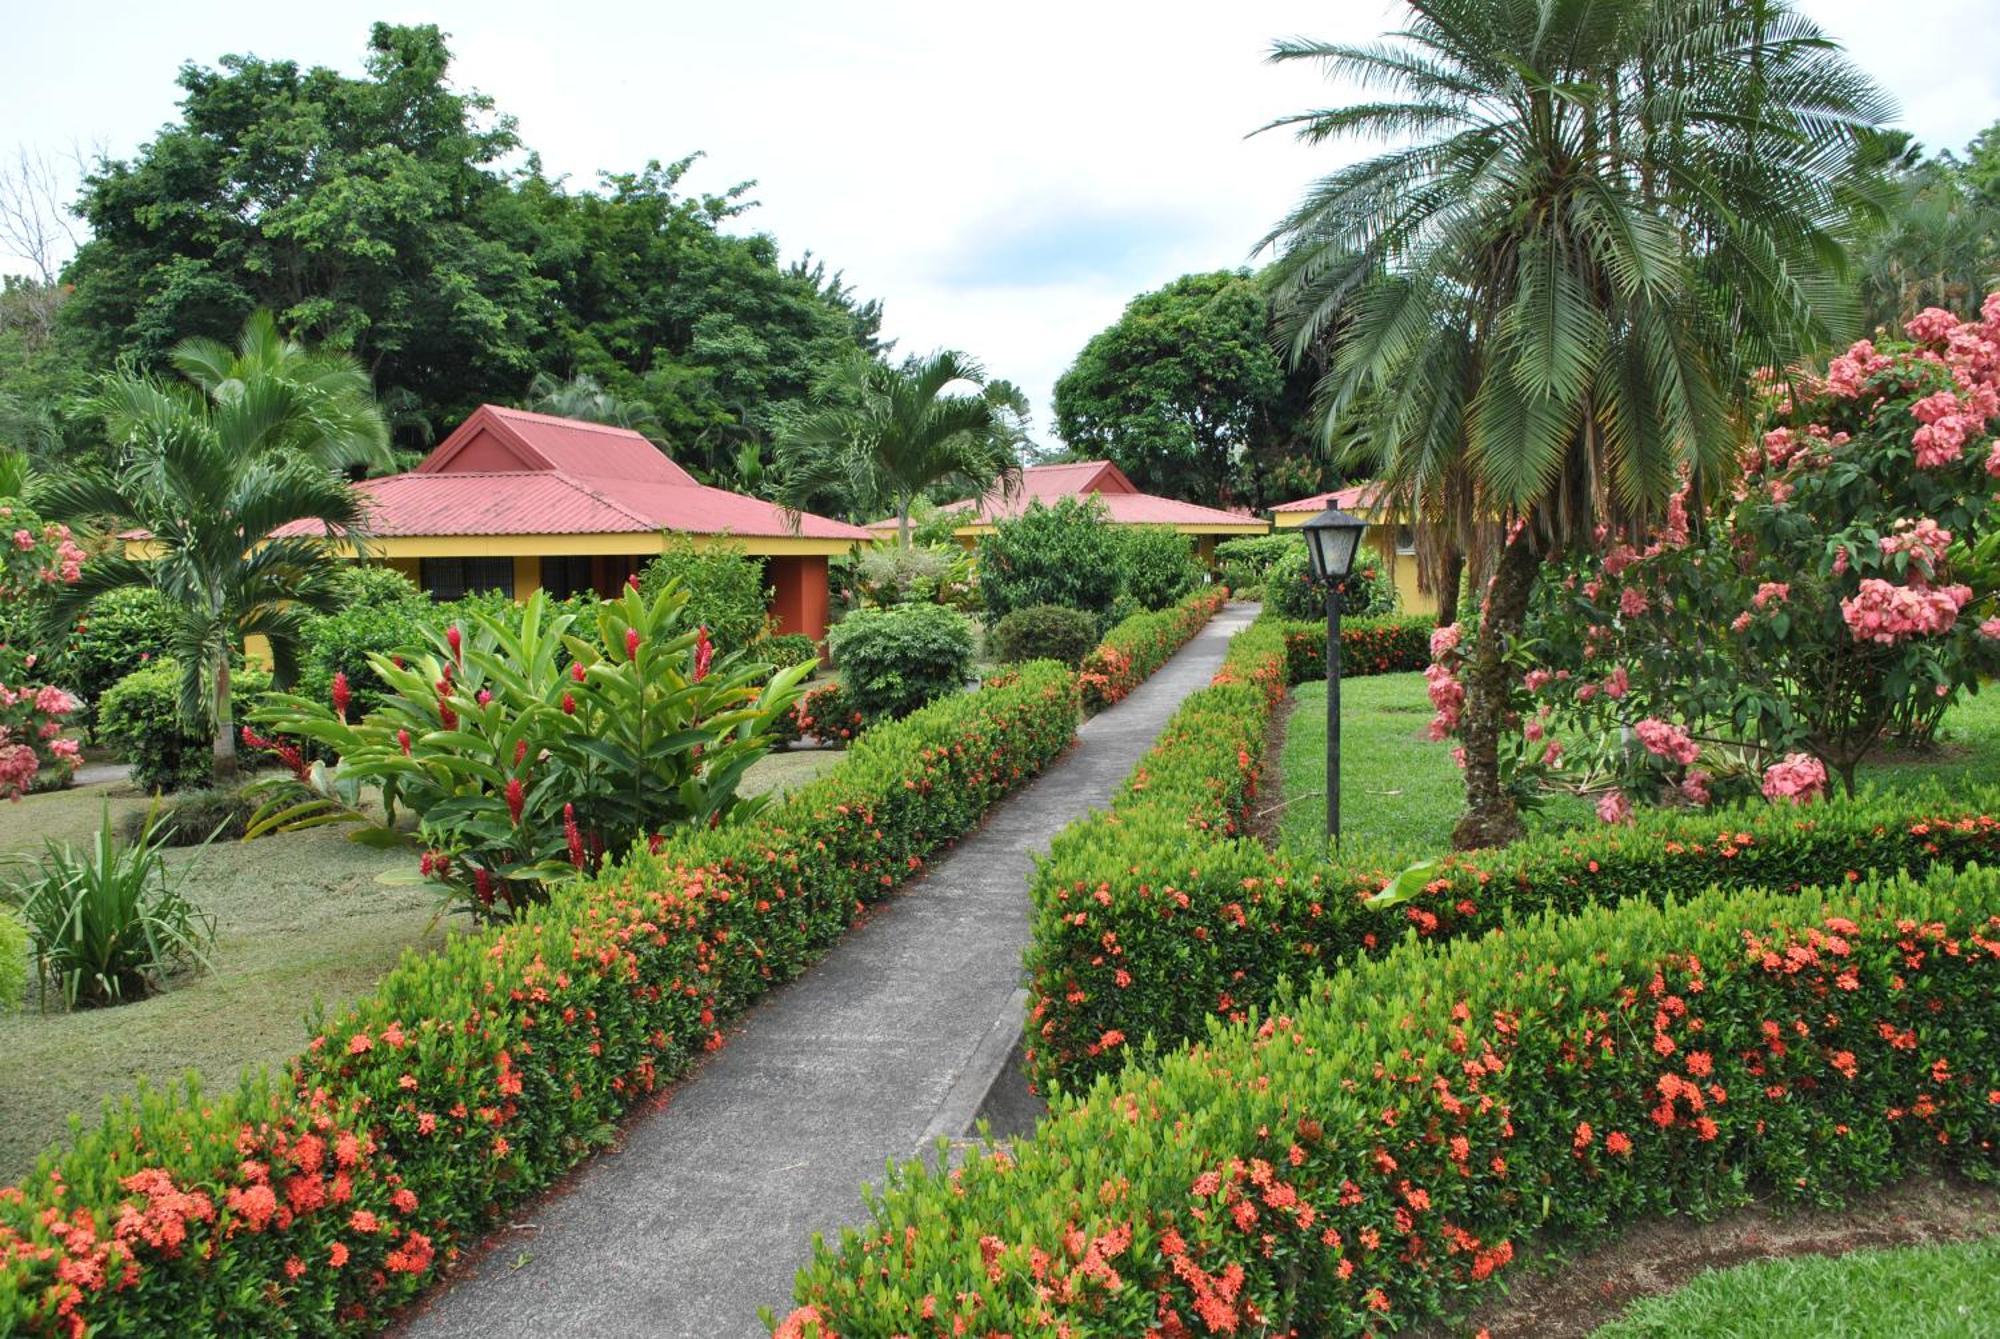
{"type": "Polygon", "coordinates": [[[1742,374],[1852,326],[1842,246],[1888,104],[1782,0],[1408,6],[1374,46],[1274,46],[1382,90],[1278,126],[1398,146],[1266,244],[1294,360],[1338,330],[1322,442],[1492,572],[1454,835],[1494,845],[1520,833],[1498,739],[1540,564],[1710,486],[1742,374]]]}

